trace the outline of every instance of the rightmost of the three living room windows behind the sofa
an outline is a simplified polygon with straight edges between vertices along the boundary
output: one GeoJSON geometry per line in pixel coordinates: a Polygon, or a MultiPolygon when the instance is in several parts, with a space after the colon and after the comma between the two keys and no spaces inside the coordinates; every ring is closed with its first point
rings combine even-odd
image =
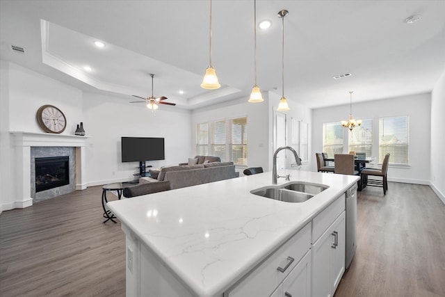
{"type": "Polygon", "coordinates": [[[230,155],[237,165],[248,165],[248,118],[232,119],[230,155]]]}

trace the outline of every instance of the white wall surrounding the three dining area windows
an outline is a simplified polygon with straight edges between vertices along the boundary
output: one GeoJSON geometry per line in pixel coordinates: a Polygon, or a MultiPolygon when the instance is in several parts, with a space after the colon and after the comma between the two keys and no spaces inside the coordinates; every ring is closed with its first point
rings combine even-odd
{"type": "MultiPolygon", "coordinates": [[[[395,182],[429,184],[430,180],[430,93],[353,103],[356,119],[372,119],[378,135],[378,119],[410,116],[410,166],[389,166],[388,179],[395,182]]],[[[323,150],[323,122],[337,122],[349,117],[349,104],[314,109],[312,114],[312,155],[323,150]]],[[[346,129],[346,128],[345,128],[346,129]]],[[[347,134],[346,134],[347,135],[347,134]]],[[[347,152],[348,147],[344,148],[347,152]]],[[[373,156],[378,156],[378,138],[373,140],[373,156]]],[[[314,170],[316,163],[312,165],[314,170]]]]}

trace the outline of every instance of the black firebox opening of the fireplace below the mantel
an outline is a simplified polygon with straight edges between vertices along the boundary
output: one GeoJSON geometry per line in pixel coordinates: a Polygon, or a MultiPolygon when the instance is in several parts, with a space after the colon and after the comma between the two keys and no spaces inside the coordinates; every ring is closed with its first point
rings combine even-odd
{"type": "Polygon", "coordinates": [[[35,158],[35,193],[70,184],[70,157],[35,158]]]}

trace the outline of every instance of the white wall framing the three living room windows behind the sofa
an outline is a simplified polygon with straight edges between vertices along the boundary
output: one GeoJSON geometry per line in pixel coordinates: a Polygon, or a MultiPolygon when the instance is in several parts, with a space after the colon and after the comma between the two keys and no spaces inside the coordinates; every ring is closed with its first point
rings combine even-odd
{"type": "MultiPolygon", "coordinates": [[[[248,166],[268,168],[268,105],[267,94],[263,93],[265,102],[249,103],[246,98],[223,102],[195,109],[192,113],[191,146],[195,147],[196,125],[202,122],[213,122],[225,118],[248,117],[248,166]]],[[[193,155],[196,150],[193,150],[193,155]]],[[[241,170],[242,171],[242,170],[241,170]]]]}

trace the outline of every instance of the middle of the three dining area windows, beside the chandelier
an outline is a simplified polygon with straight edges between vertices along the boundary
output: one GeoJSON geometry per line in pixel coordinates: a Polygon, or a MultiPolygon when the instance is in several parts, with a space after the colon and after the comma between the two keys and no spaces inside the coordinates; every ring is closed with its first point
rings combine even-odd
{"type": "Polygon", "coordinates": [[[362,125],[349,132],[349,152],[373,155],[373,120],[362,120],[362,125]]]}

